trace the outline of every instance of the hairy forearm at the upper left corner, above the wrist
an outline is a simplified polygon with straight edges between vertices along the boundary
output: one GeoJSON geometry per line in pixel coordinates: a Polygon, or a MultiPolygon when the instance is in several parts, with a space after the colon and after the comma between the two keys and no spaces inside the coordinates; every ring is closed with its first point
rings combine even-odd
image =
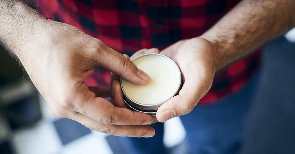
{"type": "Polygon", "coordinates": [[[32,3],[0,0],[0,42],[18,56],[24,47],[37,39],[40,23],[46,20],[32,3]]]}

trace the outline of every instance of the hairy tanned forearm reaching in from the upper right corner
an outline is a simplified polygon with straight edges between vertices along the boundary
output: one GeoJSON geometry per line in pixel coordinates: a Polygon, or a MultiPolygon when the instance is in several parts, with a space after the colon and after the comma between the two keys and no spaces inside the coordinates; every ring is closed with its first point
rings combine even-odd
{"type": "Polygon", "coordinates": [[[222,69],[295,26],[294,0],[244,0],[201,38],[216,46],[214,63],[222,69]]]}

